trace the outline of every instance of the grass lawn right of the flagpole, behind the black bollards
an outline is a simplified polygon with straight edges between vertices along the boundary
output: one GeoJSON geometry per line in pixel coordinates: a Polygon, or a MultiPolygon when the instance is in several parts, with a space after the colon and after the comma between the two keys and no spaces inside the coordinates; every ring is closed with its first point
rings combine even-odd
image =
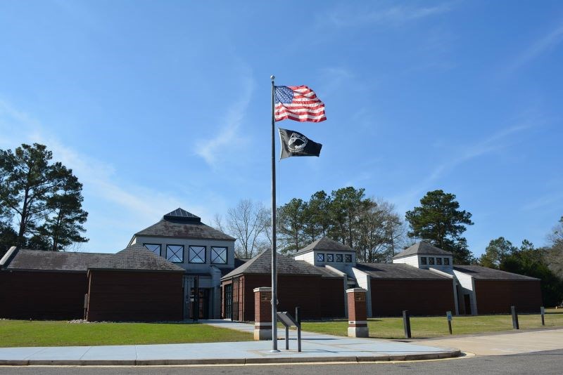
{"type": "MultiPolygon", "coordinates": [[[[537,315],[518,315],[520,329],[540,328],[541,317],[537,315]]],[[[383,317],[368,320],[369,337],[405,338],[402,317],[383,317]]],[[[545,327],[563,327],[563,309],[545,310],[545,327]]],[[[346,336],[347,320],[327,322],[303,322],[303,331],[346,336]]],[[[448,320],[444,317],[411,317],[410,329],[413,338],[449,336],[448,320]]],[[[511,315],[479,315],[453,317],[453,334],[475,334],[480,332],[507,331],[512,329],[511,315]]]]}

